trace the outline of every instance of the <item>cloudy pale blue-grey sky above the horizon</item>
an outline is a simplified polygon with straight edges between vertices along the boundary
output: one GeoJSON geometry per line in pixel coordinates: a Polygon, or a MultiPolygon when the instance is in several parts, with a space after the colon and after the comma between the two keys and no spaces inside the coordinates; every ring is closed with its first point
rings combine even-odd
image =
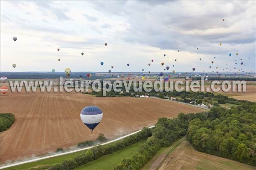
{"type": "Polygon", "coordinates": [[[0,8],[0,71],[256,67],[255,1],[0,1],[0,8]]]}

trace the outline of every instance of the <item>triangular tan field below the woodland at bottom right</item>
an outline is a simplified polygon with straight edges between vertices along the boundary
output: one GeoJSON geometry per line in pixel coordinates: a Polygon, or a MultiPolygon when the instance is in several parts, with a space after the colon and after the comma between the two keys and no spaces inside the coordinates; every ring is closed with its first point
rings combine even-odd
{"type": "Polygon", "coordinates": [[[256,167],[198,152],[183,140],[166,156],[158,170],[256,170],[256,167]]]}

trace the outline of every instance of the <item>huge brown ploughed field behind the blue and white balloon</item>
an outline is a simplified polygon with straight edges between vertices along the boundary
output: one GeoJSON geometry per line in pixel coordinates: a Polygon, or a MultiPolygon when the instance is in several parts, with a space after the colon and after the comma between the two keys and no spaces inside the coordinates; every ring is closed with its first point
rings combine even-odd
{"type": "Polygon", "coordinates": [[[204,109],[157,98],[96,98],[81,92],[7,92],[0,95],[0,112],[11,112],[15,123],[0,133],[0,162],[38,156],[58,147],[72,147],[94,140],[99,133],[116,138],[145,126],[157,118],[204,109]],[[80,111],[96,105],[103,119],[93,133],[80,120],[80,111]]]}

